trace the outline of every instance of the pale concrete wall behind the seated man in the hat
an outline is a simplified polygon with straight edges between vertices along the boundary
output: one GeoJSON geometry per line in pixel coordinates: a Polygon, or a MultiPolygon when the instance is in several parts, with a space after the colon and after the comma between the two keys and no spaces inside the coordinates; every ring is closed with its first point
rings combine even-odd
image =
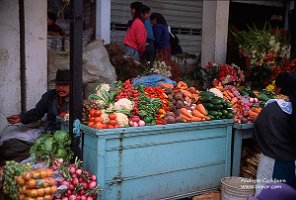
{"type": "MultiPolygon", "coordinates": [[[[47,1],[24,0],[25,76],[20,81],[20,20],[18,0],[0,0],[0,111],[18,114],[21,102],[27,109],[35,106],[47,89],[47,1]],[[21,87],[26,99],[21,99],[21,87]]],[[[0,114],[0,131],[7,125],[0,114]]]]}

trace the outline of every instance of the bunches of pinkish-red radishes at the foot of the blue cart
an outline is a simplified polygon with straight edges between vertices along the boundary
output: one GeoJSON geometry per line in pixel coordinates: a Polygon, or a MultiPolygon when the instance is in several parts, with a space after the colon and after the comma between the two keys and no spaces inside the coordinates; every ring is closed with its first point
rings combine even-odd
{"type": "Polygon", "coordinates": [[[61,165],[60,173],[64,180],[58,182],[63,189],[56,200],[94,200],[100,192],[96,176],[83,169],[82,162],[77,158],[74,164],[61,165]]]}

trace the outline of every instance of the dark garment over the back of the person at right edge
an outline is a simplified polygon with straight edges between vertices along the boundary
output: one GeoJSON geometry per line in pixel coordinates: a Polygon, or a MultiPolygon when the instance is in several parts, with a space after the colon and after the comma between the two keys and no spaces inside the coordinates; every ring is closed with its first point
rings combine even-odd
{"type": "Polygon", "coordinates": [[[291,127],[290,115],[276,102],[265,106],[254,124],[254,137],[261,152],[276,160],[296,160],[296,130],[291,127]]]}

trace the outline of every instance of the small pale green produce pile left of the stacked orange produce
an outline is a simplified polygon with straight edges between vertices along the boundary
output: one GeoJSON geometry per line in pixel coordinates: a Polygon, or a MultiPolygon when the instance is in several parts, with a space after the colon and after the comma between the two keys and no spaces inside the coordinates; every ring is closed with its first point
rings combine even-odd
{"type": "Polygon", "coordinates": [[[16,178],[24,172],[31,170],[30,163],[21,164],[16,161],[7,161],[3,167],[3,192],[12,200],[19,199],[18,191],[20,185],[17,184],[16,178]]]}

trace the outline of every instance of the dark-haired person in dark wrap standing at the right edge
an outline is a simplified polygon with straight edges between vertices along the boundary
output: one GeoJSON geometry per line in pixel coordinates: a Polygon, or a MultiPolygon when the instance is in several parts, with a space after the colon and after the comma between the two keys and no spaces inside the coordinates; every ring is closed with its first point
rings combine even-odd
{"type": "MultiPolygon", "coordinates": [[[[254,123],[254,137],[261,151],[257,179],[285,180],[296,189],[296,75],[284,72],[276,78],[275,93],[254,123]]],[[[258,183],[256,193],[264,187],[258,183]]]]}

